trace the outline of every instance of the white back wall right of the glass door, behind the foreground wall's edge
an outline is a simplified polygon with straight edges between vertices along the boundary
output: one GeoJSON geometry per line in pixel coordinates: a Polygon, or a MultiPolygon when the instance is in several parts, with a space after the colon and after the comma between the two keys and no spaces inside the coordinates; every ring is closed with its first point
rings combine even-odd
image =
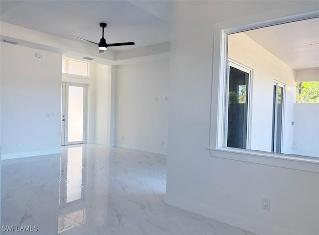
{"type": "Polygon", "coordinates": [[[168,79],[168,59],[117,66],[116,146],[166,154],[168,79]]]}

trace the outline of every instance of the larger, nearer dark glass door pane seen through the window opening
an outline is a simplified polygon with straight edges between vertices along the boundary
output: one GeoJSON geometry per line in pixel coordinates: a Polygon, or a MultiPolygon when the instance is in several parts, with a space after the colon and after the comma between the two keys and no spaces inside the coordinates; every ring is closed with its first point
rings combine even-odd
{"type": "Polygon", "coordinates": [[[227,146],[246,148],[249,74],[229,68],[227,146]]]}

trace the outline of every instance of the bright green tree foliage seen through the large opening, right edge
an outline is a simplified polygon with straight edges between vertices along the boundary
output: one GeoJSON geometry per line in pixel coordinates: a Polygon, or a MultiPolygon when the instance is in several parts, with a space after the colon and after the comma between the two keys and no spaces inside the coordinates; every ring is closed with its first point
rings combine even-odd
{"type": "Polygon", "coordinates": [[[296,103],[319,103],[319,81],[296,83],[296,103]]]}

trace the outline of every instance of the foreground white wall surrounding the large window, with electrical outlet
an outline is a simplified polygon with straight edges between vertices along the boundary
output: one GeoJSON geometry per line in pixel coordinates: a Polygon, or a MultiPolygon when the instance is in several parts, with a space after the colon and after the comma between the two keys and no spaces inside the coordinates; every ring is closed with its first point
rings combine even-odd
{"type": "MultiPolygon", "coordinates": [[[[211,157],[207,150],[212,62],[217,59],[213,58],[214,25],[207,21],[216,15],[220,17],[214,22],[241,13],[245,20],[231,21],[238,24],[316,9],[314,5],[298,5],[260,16],[256,12],[266,11],[267,1],[239,3],[230,8],[229,2],[219,1],[216,4],[220,7],[210,8],[204,3],[194,10],[185,2],[173,9],[165,202],[259,235],[318,235],[318,173],[211,157]],[[191,24],[199,19],[205,23],[191,24]],[[271,200],[270,211],[261,209],[262,198],[271,200]]],[[[269,4],[276,8],[284,3],[269,4]]]]}

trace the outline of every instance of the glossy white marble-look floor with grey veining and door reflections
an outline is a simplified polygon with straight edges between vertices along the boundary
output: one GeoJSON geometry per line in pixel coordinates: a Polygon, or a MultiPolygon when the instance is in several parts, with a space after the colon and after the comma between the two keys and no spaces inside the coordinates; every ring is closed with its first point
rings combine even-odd
{"type": "Polygon", "coordinates": [[[2,161],[3,235],[251,235],[165,205],[166,157],[85,144],[2,161]]]}

